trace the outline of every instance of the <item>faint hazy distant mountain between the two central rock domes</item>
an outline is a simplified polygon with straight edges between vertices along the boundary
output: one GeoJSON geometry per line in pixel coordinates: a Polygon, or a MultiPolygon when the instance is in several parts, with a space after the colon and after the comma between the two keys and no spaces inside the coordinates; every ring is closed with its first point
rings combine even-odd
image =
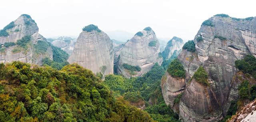
{"type": "Polygon", "coordinates": [[[132,33],[123,30],[108,31],[106,33],[111,39],[119,40],[121,42],[126,42],[134,36],[132,33]]]}

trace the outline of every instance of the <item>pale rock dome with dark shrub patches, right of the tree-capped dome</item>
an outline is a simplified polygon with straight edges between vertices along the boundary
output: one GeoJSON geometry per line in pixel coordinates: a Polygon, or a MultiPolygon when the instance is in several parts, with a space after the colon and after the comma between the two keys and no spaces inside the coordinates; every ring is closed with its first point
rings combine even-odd
{"type": "Polygon", "coordinates": [[[145,74],[156,62],[162,64],[159,52],[159,41],[156,34],[150,27],[145,28],[124,44],[118,61],[118,74],[125,77],[145,74]],[[132,70],[135,66],[136,70],[132,70]]]}

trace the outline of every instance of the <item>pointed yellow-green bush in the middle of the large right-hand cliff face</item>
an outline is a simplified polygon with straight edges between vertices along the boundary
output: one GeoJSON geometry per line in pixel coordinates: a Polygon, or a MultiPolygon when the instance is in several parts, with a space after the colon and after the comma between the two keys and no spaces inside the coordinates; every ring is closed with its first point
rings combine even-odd
{"type": "Polygon", "coordinates": [[[209,85],[208,74],[202,66],[200,66],[198,70],[194,73],[193,78],[195,78],[195,80],[201,84],[204,84],[206,86],[209,85]]]}

